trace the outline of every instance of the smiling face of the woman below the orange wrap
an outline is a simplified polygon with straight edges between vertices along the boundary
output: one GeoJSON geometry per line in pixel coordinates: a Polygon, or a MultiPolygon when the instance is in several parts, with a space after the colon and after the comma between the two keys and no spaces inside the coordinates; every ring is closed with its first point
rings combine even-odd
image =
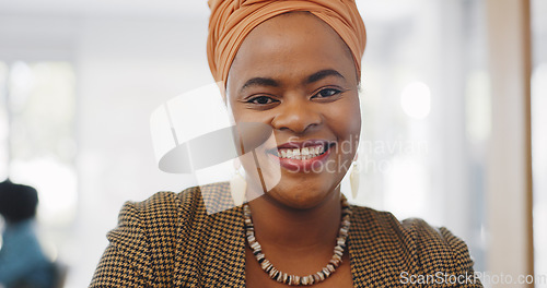
{"type": "MultiPolygon", "coordinates": [[[[330,26],[306,12],[258,25],[232,63],[226,95],[236,123],[274,131],[276,143],[258,148],[254,159],[264,177],[280,169],[269,197],[310,208],[339,191],[357,151],[361,112],[353,59],[330,26]]],[[[242,163],[247,172],[256,169],[242,163]]]]}

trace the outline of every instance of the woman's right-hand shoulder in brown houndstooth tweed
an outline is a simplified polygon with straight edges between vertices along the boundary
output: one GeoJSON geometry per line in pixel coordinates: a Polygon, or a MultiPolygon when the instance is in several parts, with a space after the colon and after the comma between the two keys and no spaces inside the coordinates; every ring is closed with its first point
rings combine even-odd
{"type": "Polygon", "coordinates": [[[388,212],[353,206],[353,220],[362,223],[373,241],[396,243],[393,253],[407,263],[417,265],[417,272],[464,273],[472,271],[465,242],[444,227],[434,227],[419,218],[398,220],[388,212]]]}

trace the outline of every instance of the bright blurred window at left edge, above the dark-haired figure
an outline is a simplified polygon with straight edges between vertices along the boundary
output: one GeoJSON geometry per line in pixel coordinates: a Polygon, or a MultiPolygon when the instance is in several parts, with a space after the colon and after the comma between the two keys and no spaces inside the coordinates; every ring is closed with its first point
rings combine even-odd
{"type": "Polygon", "coordinates": [[[0,167],[3,178],[35,187],[50,256],[75,216],[75,92],[69,62],[0,62],[0,167]]]}

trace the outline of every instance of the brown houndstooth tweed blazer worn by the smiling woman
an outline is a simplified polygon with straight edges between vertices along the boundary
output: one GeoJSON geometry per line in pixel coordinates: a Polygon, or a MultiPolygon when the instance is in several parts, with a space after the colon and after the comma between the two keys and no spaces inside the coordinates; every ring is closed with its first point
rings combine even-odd
{"type": "MultiPolygon", "coordinates": [[[[233,207],[229,183],[210,184],[208,191],[213,193],[159,192],[126,203],[90,287],[245,287],[243,209],[233,207]],[[232,208],[207,215],[202,197],[232,208]]],[[[352,209],[348,248],[354,287],[481,287],[405,285],[410,275],[472,275],[466,244],[420,219],[352,209]]]]}

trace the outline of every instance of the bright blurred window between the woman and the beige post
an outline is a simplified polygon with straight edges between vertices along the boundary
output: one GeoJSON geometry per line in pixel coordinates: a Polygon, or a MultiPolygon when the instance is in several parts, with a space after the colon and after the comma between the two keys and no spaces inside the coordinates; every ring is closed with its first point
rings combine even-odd
{"type": "Polygon", "coordinates": [[[484,1],[358,5],[368,46],[359,147],[364,173],[354,202],[446,226],[484,271],[490,131],[484,1]]]}

